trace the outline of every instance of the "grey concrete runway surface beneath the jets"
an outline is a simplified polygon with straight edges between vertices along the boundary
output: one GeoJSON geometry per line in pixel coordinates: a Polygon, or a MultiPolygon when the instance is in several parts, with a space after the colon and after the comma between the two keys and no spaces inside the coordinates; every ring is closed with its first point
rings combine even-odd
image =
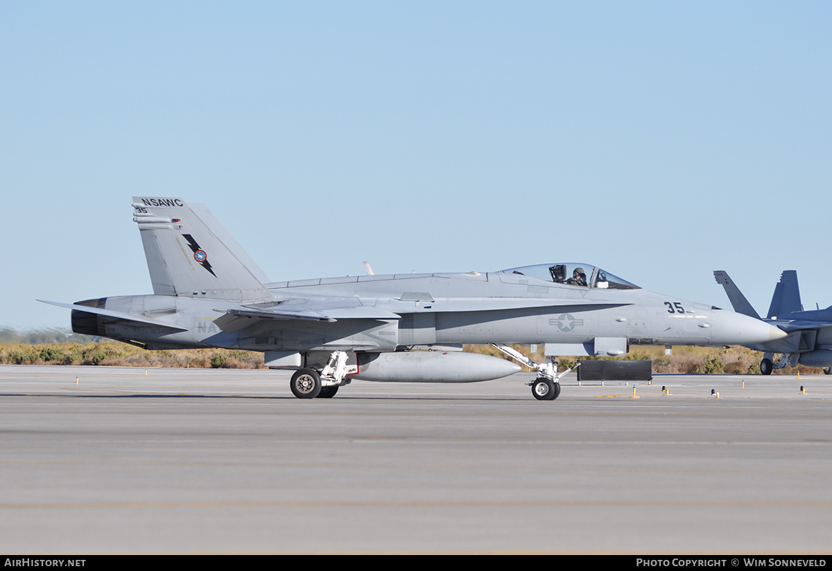
{"type": "Polygon", "coordinates": [[[567,376],[557,401],[528,374],[312,401],[289,377],[0,366],[0,550],[832,550],[832,377],[567,376]]]}

